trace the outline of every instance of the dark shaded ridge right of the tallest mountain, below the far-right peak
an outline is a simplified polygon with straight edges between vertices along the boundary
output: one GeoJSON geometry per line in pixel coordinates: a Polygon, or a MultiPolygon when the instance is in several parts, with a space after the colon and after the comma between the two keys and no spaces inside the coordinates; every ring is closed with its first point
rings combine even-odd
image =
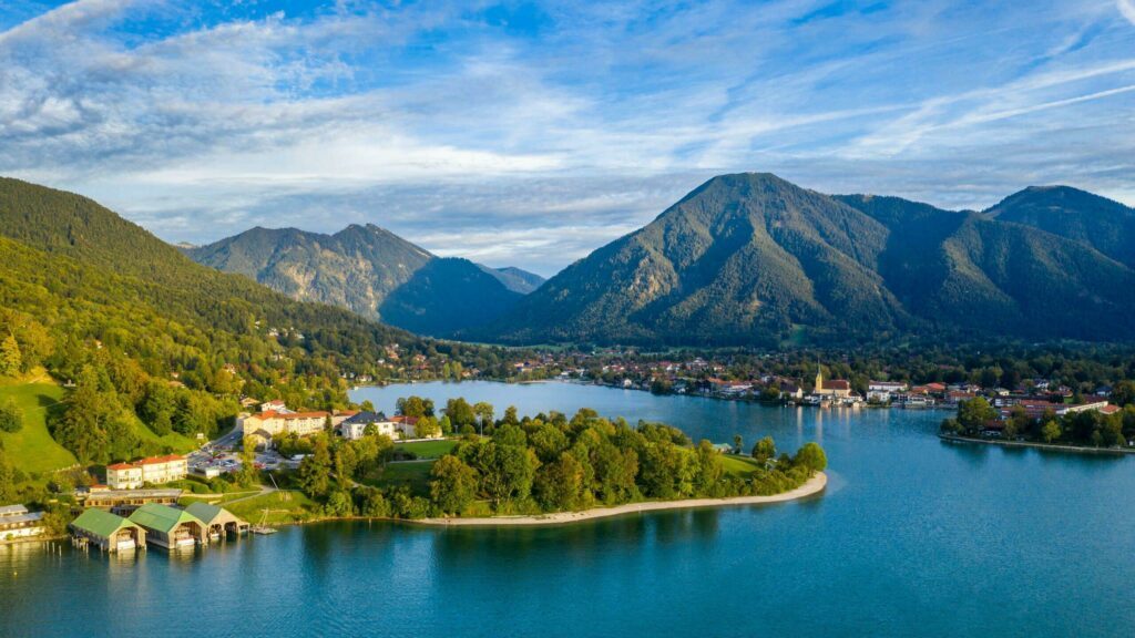
{"type": "Polygon", "coordinates": [[[1124,319],[1133,274],[1066,237],[975,212],[898,198],[838,195],[891,230],[880,259],[913,313],[968,334],[1108,338],[1124,319]]]}

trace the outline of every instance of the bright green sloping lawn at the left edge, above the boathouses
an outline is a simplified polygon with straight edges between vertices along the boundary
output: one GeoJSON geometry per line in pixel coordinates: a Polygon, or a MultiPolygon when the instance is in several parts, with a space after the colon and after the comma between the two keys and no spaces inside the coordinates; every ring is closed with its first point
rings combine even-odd
{"type": "Polygon", "coordinates": [[[56,443],[48,433],[48,411],[57,409],[64,388],[54,384],[0,386],[0,401],[12,400],[24,412],[24,427],[17,433],[0,433],[9,461],[25,472],[50,472],[77,463],[75,455],[56,443]]]}

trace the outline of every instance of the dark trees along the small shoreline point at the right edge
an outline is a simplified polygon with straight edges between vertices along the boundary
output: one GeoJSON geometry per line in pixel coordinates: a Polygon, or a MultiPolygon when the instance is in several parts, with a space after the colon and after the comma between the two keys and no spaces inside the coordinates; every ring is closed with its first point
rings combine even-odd
{"type": "Polygon", "coordinates": [[[942,421],[945,434],[978,437],[997,431],[1002,438],[1036,443],[1081,445],[1091,447],[1124,447],[1135,440],[1135,403],[1123,410],[1104,414],[1085,410],[1057,415],[1049,411],[1041,417],[1028,415],[1024,408],[1010,410],[1001,420],[998,411],[982,397],[958,404],[958,415],[942,421]]]}

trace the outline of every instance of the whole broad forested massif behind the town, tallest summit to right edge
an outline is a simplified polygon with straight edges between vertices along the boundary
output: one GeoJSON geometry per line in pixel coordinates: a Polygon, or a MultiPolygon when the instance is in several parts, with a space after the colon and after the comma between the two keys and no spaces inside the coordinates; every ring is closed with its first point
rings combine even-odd
{"type": "Polygon", "coordinates": [[[476,338],[861,343],[1128,339],[1135,272],[1078,241],[897,198],[715,177],[595,251],[476,338]]]}

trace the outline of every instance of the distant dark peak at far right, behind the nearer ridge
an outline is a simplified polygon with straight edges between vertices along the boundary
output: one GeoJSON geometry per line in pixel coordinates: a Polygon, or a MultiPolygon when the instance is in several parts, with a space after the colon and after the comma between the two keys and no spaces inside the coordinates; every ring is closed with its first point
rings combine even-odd
{"type": "Polygon", "coordinates": [[[1135,268],[1135,209],[1107,198],[1069,186],[1031,186],[985,215],[1075,240],[1135,268]]]}

